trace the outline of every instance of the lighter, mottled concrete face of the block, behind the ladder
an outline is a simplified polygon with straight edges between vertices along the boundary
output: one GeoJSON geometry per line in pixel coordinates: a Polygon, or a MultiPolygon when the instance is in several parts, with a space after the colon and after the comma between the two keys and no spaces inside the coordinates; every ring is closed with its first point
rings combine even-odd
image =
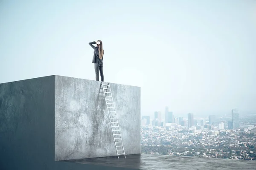
{"type": "MultiPolygon", "coordinates": [[[[55,77],[55,160],[116,156],[101,82],[55,77]]],[[[140,88],[111,83],[125,153],[140,153],[140,88]]]]}

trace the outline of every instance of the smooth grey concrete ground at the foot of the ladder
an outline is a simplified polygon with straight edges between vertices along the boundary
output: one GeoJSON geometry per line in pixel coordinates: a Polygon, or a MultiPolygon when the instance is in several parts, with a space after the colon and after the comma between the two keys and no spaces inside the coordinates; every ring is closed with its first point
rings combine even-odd
{"type": "Polygon", "coordinates": [[[256,170],[256,161],[137,154],[117,157],[68,160],[79,164],[137,170],[256,170]]]}

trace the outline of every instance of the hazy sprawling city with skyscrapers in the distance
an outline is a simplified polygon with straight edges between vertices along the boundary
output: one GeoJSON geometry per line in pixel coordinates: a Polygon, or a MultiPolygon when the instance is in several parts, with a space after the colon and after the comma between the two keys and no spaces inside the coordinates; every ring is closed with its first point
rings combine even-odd
{"type": "Polygon", "coordinates": [[[237,109],[231,119],[192,113],[183,119],[166,107],[164,121],[155,112],[152,121],[143,116],[141,125],[142,153],[256,160],[256,115],[239,119],[237,109]]]}

